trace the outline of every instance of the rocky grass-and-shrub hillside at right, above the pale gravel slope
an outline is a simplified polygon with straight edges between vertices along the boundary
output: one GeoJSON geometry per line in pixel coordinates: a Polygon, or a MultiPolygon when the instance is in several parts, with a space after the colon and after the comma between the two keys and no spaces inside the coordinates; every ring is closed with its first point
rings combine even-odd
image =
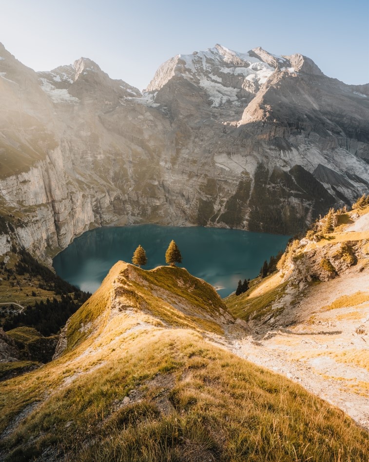
{"type": "MultiPolygon", "coordinates": [[[[360,200],[359,200],[360,201],[360,200]]],[[[359,202],[358,201],[358,202],[359,202]]],[[[369,205],[331,211],[313,223],[301,240],[292,241],[278,261],[278,270],[251,281],[250,289],[224,301],[232,313],[254,324],[283,324],[284,310],[308,289],[346,272],[361,273],[369,264],[369,205]],[[328,225],[327,221],[331,221],[328,225]],[[327,229],[329,230],[327,232],[327,229]],[[269,319],[267,319],[269,317],[269,319]]]]}

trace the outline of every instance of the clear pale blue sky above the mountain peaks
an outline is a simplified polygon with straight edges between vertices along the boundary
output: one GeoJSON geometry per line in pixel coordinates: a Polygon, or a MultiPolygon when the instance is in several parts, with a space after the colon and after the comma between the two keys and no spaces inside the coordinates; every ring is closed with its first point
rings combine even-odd
{"type": "Polygon", "coordinates": [[[369,82],[369,0],[0,0],[0,41],[50,70],[84,56],[142,89],[176,54],[220,43],[302,53],[345,83],[369,82]]]}

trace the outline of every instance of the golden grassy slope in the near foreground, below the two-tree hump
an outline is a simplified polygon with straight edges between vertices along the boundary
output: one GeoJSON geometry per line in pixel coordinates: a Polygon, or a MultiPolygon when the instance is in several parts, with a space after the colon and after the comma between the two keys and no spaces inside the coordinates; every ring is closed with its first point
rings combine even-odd
{"type": "MultiPolygon", "coordinates": [[[[5,461],[49,447],[86,462],[328,462],[368,454],[368,434],[343,412],[198,334],[154,332],[121,350],[36,408],[1,443],[5,461]]],[[[33,374],[42,383],[42,371],[33,374]]]]}

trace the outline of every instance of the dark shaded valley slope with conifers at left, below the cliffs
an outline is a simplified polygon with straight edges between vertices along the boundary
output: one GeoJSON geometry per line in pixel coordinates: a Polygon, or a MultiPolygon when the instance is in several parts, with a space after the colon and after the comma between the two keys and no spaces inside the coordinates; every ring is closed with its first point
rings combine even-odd
{"type": "Polygon", "coordinates": [[[51,361],[60,328],[89,295],[13,242],[0,256],[0,380],[51,361]]]}

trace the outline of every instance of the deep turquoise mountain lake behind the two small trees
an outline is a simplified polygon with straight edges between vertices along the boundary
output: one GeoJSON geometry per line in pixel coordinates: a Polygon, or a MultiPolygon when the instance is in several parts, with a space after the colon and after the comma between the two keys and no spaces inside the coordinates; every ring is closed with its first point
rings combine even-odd
{"type": "Polygon", "coordinates": [[[76,238],[54,259],[57,274],[82,290],[95,292],[118,260],[131,262],[141,244],[152,269],[165,264],[172,239],[182,254],[182,266],[212,284],[221,297],[241,279],[258,275],[264,260],[284,250],[290,236],[235,229],[134,225],[97,228],[76,238]]]}

